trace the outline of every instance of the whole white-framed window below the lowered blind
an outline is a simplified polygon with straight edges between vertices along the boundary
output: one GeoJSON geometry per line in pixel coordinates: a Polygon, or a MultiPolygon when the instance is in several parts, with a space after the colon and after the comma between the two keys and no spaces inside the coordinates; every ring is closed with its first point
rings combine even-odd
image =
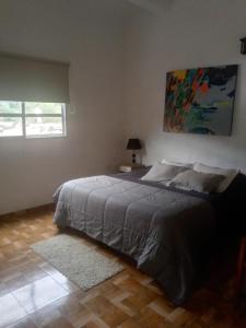
{"type": "Polygon", "coordinates": [[[0,101],[0,137],[62,136],[66,136],[65,104],[0,101]]]}

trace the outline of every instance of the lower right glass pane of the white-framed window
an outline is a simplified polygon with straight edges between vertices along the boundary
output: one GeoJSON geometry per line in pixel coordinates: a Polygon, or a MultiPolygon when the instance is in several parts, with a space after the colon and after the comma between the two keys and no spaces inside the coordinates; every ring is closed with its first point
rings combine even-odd
{"type": "Polygon", "coordinates": [[[26,136],[63,134],[61,117],[26,117],[26,136]]]}

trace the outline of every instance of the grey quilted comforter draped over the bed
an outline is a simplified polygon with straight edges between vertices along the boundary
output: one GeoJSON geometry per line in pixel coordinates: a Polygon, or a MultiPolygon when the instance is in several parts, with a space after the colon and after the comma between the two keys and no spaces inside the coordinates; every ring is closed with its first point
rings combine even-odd
{"type": "Polygon", "coordinates": [[[208,201],[112,176],[68,181],[55,199],[58,226],[82,231],[133,258],[174,304],[189,296],[215,235],[208,201]]]}

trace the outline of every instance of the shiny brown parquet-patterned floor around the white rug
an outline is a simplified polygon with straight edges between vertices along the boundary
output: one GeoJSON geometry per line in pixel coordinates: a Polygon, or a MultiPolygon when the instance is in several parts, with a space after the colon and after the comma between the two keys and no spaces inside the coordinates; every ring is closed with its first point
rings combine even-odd
{"type": "Polygon", "coordinates": [[[150,277],[81,236],[81,243],[126,266],[121,273],[82,291],[30,248],[59,234],[51,219],[51,209],[0,218],[0,328],[246,327],[246,311],[233,304],[234,278],[223,277],[222,263],[219,274],[211,274],[184,307],[175,307],[150,277]]]}

